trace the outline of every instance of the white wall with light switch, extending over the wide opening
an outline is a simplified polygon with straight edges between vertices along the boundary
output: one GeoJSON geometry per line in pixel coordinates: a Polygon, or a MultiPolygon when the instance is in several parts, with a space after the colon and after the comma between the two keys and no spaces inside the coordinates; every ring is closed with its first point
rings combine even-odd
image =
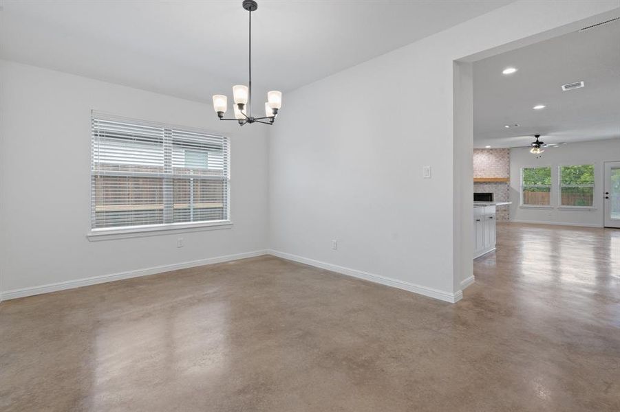
{"type": "Polygon", "coordinates": [[[270,247],[458,299],[471,276],[472,145],[453,110],[472,102],[471,73],[453,79],[453,60],[618,5],[518,1],[288,93],[270,135],[270,247]]]}

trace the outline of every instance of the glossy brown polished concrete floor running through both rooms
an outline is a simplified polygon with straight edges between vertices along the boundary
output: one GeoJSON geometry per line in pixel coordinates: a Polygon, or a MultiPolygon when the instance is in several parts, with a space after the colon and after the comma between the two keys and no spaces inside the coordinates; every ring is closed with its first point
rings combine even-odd
{"type": "Polygon", "coordinates": [[[2,411],[620,411],[620,231],[504,224],[458,304],[273,257],[0,304],[2,411]]]}

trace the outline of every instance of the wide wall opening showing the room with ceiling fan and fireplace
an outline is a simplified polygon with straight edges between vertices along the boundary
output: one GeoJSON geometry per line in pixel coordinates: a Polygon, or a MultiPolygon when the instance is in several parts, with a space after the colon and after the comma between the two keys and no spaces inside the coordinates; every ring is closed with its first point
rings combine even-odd
{"type": "Polygon", "coordinates": [[[455,288],[506,225],[620,226],[617,13],[455,60],[455,288]]]}

